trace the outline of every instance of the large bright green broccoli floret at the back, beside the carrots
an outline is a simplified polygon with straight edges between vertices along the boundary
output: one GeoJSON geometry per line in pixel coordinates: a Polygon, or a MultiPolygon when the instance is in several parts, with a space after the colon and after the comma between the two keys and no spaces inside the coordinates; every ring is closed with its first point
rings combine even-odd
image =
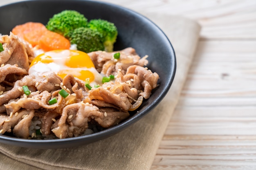
{"type": "Polygon", "coordinates": [[[77,11],[64,10],[53,15],[46,24],[46,28],[66,37],[70,31],[79,27],[86,27],[87,21],[87,18],[77,11]]]}

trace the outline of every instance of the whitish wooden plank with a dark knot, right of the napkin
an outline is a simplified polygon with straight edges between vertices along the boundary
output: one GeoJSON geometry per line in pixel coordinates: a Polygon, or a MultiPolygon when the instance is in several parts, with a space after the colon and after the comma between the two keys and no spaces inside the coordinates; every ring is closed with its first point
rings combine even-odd
{"type": "Polygon", "coordinates": [[[256,41],[200,41],[182,96],[252,96],[256,41]]]}

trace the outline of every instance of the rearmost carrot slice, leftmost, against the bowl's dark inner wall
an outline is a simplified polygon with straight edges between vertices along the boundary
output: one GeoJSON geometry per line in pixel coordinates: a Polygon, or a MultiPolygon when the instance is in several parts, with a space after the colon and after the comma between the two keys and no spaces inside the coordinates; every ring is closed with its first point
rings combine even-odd
{"type": "Polygon", "coordinates": [[[44,24],[39,22],[27,22],[25,24],[17,25],[12,29],[12,33],[24,39],[24,35],[33,30],[47,30],[44,24]]]}

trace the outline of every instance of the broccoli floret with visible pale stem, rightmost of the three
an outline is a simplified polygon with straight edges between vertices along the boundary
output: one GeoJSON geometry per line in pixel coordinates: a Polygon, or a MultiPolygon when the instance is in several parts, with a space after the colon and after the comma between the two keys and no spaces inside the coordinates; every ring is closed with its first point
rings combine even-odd
{"type": "Polygon", "coordinates": [[[106,20],[90,20],[88,27],[102,34],[105,51],[112,52],[113,45],[117,39],[117,27],[106,20]]]}

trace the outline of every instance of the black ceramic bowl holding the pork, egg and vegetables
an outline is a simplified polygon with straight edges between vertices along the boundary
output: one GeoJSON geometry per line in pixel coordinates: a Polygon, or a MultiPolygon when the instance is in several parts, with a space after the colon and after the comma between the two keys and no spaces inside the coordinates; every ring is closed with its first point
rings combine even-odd
{"type": "Polygon", "coordinates": [[[140,56],[148,55],[147,67],[159,74],[159,87],[153,90],[141,107],[131,112],[130,118],[110,129],[91,135],[66,139],[34,140],[0,135],[0,142],[29,148],[63,148],[78,146],[104,139],[137,122],[149,113],[168,92],[175,75],[176,61],[173,47],[166,35],[146,17],[138,13],[104,2],[87,0],[31,0],[0,7],[0,33],[9,34],[12,28],[25,22],[46,24],[54,14],[65,9],[83,13],[90,19],[104,19],[113,22],[118,29],[114,50],[133,47],[140,56]]]}

